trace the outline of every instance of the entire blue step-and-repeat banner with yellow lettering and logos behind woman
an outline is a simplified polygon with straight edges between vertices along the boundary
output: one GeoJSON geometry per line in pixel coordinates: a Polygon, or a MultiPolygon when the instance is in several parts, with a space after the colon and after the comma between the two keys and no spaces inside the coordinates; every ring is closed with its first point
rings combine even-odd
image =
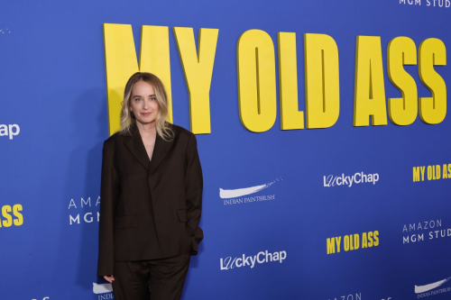
{"type": "Polygon", "coordinates": [[[184,299],[451,298],[449,0],[0,6],[2,300],[114,298],[101,152],[138,70],[197,134],[184,299]]]}

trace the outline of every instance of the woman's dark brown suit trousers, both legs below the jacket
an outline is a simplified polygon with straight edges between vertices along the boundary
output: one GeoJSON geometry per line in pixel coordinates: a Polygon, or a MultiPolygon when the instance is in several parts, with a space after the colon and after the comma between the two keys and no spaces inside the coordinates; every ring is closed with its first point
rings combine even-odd
{"type": "Polygon", "coordinates": [[[190,257],[115,261],[115,300],[179,300],[190,257]]]}

